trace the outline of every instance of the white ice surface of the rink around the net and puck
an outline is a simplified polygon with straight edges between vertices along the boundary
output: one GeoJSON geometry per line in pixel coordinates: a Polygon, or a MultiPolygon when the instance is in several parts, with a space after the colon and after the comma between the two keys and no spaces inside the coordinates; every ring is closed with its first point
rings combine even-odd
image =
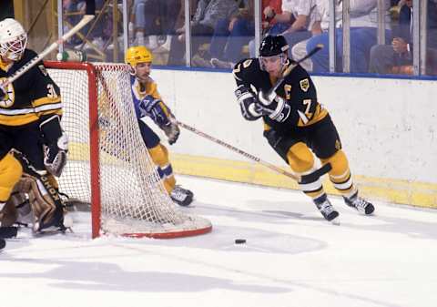
{"type": "Polygon", "coordinates": [[[74,213],[74,234],[7,240],[0,306],[437,306],[437,210],[376,202],[366,217],[331,198],[334,226],[297,191],[178,179],[211,233],[91,240],[74,213]]]}

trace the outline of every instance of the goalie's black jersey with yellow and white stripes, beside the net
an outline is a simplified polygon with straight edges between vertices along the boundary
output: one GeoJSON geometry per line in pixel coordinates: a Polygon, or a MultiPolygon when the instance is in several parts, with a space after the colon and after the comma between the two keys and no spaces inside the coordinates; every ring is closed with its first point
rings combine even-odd
{"type": "MultiPolygon", "coordinates": [[[[0,61],[0,80],[12,76],[35,56],[35,51],[25,49],[22,58],[11,67],[0,61]]],[[[0,125],[22,126],[45,115],[62,115],[59,87],[47,74],[42,61],[8,85],[6,91],[0,100],[0,125]]]]}

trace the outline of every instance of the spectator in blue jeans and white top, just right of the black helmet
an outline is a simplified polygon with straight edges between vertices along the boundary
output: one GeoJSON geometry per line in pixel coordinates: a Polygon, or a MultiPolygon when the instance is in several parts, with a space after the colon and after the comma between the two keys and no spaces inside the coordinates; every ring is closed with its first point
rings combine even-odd
{"type": "MultiPolygon", "coordinates": [[[[325,5],[329,2],[325,0],[325,5]]],[[[385,9],[388,10],[390,0],[385,0],[385,9]]],[[[336,16],[341,17],[342,2],[337,4],[336,16]]],[[[369,70],[369,57],[371,46],[377,41],[377,15],[378,5],[377,0],[351,0],[351,72],[365,73],[369,70]]],[[[329,14],[329,9],[328,9],[329,14]]],[[[390,39],[391,30],[389,24],[388,11],[385,14],[386,39],[390,39]]],[[[312,56],[313,71],[318,73],[329,72],[329,34],[322,33],[319,36],[313,36],[307,43],[307,52],[312,50],[317,45],[325,46],[320,52],[312,56]]],[[[337,47],[337,70],[342,70],[342,28],[340,21],[336,22],[336,47],[337,47]]]]}

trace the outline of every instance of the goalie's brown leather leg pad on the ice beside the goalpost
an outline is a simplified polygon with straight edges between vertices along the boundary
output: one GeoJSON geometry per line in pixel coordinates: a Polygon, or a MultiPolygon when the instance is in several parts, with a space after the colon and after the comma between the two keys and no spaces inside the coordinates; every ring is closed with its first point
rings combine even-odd
{"type": "Polygon", "coordinates": [[[27,221],[22,219],[31,210],[35,232],[65,231],[64,204],[51,175],[36,171],[21,153],[14,151],[14,156],[23,166],[23,176],[0,213],[0,225],[10,227],[15,222],[27,221]]]}

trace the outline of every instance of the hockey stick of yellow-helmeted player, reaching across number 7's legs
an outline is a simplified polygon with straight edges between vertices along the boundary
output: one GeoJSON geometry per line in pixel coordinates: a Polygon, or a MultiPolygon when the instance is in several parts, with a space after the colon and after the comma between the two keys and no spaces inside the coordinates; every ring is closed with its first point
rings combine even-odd
{"type": "Polygon", "coordinates": [[[255,161],[255,162],[257,162],[257,163],[259,163],[259,164],[261,164],[261,165],[263,165],[263,166],[265,166],[265,167],[267,167],[267,168],[269,168],[269,169],[271,169],[273,171],[278,172],[279,174],[282,174],[282,175],[285,175],[287,177],[290,177],[291,179],[295,179],[295,180],[297,180],[300,183],[316,181],[317,179],[320,178],[320,176],[326,174],[331,169],[330,163],[327,163],[324,166],[322,166],[320,169],[316,169],[315,171],[313,171],[312,173],[307,174],[307,175],[301,175],[300,176],[300,175],[297,175],[297,174],[292,174],[292,173],[288,172],[287,170],[280,169],[280,168],[274,166],[273,164],[270,164],[269,162],[261,160],[258,157],[255,157],[255,156],[253,156],[253,155],[251,155],[251,154],[249,154],[249,153],[247,153],[247,152],[245,152],[245,151],[243,151],[243,150],[241,150],[239,148],[233,147],[232,145],[229,145],[228,143],[225,143],[224,141],[222,141],[222,140],[220,140],[218,138],[211,137],[208,134],[206,134],[206,133],[204,133],[202,131],[199,131],[197,128],[193,128],[191,126],[188,126],[187,124],[184,124],[184,123],[182,123],[180,121],[177,121],[177,122],[178,122],[178,125],[180,127],[185,128],[185,129],[187,129],[187,130],[197,134],[200,137],[208,138],[210,141],[213,141],[214,143],[217,143],[217,144],[219,144],[221,146],[224,146],[224,147],[226,147],[226,148],[228,148],[228,149],[230,149],[230,150],[232,150],[234,152],[237,152],[241,156],[244,156],[244,157],[246,157],[248,159],[251,159],[251,160],[253,160],[253,161],[255,161]]]}

